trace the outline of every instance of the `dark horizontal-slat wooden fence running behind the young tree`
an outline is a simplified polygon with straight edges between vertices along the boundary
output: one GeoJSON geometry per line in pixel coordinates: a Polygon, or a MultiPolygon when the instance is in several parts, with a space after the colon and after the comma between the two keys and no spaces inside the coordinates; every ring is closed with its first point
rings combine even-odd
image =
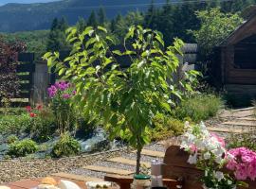
{"type": "MultiPolygon", "coordinates": [[[[174,75],[174,80],[182,77],[182,72],[195,69],[197,60],[197,45],[186,43],[183,48],[184,56],[179,57],[180,67],[174,75]]],[[[62,53],[64,56],[66,52],[62,53]]],[[[61,54],[61,55],[62,55],[61,54]]],[[[46,61],[34,60],[33,53],[21,53],[18,58],[17,75],[20,78],[20,94],[12,102],[13,106],[26,106],[28,104],[43,103],[47,99],[47,87],[58,79],[54,74],[48,73],[46,61]]],[[[130,65],[129,58],[119,60],[123,68],[130,65]]]]}

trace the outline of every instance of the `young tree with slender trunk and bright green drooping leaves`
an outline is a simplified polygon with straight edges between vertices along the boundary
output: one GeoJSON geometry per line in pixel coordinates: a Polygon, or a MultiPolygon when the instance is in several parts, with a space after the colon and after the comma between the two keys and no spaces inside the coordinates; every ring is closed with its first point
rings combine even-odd
{"type": "Polygon", "coordinates": [[[174,46],[165,48],[159,32],[141,26],[130,27],[123,52],[110,50],[113,40],[101,26],[87,27],[82,34],[70,28],[67,35],[73,46],[70,56],[61,61],[57,53],[46,53],[48,65],[75,84],[74,103],[85,115],[102,120],[112,139],[120,136],[137,148],[138,174],[155,114],[171,112],[171,96],[180,97],[172,76],[183,43],[175,40],[174,46]],[[132,45],[126,46],[127,41],[132,45]],[[132,63],[127,69],[120,68],[123,56],[132,63]]]}

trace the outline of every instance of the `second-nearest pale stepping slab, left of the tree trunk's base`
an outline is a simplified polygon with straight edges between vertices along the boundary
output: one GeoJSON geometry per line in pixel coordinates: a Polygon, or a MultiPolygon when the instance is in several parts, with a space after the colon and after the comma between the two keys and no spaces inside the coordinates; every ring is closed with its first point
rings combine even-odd
{"type": "Polygon", "coordinates": [[[82,168],[88,169],[91,171],[98,171],[98,172],[118,174],[118,175],[131,175],[134,173],[134,171],[128,171],[128,170],[117,169],[117,168],[106,167],[106,166],[98,166],[98,165],[87,165],[87,166],[83,166],[82,168]]]}

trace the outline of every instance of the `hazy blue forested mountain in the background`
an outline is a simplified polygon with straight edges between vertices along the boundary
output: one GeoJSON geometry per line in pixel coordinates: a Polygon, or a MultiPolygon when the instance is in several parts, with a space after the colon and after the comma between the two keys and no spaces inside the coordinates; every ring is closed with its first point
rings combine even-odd
{"type": "MultiPolygon", "coordinates": [[[[166,0],[155,0],[162,5],[166,0]]],[[[0,7],[0,31],[46,29],[55,17],[64,16],[70,25],[87,18],[93,9],[105,9],[108,18],[131,10],[146,10],[151,0],[63,0],[37,4],[7,4],[0,7]]]]}

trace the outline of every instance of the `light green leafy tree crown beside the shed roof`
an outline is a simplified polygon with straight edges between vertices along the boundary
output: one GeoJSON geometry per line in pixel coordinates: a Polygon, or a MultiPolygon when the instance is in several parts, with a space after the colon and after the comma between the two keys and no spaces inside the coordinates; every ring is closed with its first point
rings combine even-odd
{"type": "Polygon", "coordinates": [[[238,14],[223,13],[220,9],[197,11],[196,16],[201,22],[201,27],[199,30],[193,30],[192,34],[204,56],[210,56],[213,47],[220,44],[243,22],[238,14]]]}

